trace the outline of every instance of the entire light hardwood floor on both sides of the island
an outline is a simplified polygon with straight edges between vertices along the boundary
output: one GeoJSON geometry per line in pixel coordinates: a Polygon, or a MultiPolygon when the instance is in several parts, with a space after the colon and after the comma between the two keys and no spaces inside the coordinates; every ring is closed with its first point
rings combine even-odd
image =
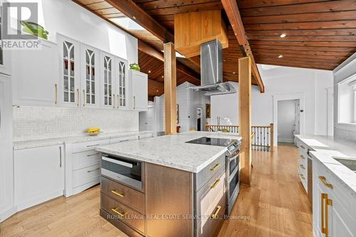
{"type": "MultiPolygon", "coordinates": [[[[313,236],[308,197],[298,181],[298,149],[253,152],[252,162],[251,187],[241,186],[234,218],[219,237],[313,236]]],[[[99,216],[99,194],[95,186],[21,211],[0,224],[0,236],[125,236],[99,216]]]]}

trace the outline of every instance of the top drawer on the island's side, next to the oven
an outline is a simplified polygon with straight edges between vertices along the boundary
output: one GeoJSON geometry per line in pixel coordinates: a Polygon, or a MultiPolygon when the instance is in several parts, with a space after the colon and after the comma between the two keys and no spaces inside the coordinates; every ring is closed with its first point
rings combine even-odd
{"type": "Polygon", "coordinates": [[[222,154],[219,158],[215,159],[214,162],[208,164],[197,174],[197,190],[201,189],[201,186],[203,186],[206,181],[208,181],[214,174],[216,174],[216,172],[219,172],[219,170],[221,169],[225,169],[225,159],[225,154],[222,154]]]}

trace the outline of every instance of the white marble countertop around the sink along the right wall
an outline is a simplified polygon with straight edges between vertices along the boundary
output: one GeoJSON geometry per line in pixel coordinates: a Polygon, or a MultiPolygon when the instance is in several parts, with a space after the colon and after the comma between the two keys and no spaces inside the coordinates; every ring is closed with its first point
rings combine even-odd
{"type": "Polygon", "coordinates": [[[333,157],[356,159],[356,142],[315,135],[295,135],[295,137],[314,149],[310,152],[313,157],[328,167],[335,177],[356,193],[356,173],[333,159],[333,157]]]}

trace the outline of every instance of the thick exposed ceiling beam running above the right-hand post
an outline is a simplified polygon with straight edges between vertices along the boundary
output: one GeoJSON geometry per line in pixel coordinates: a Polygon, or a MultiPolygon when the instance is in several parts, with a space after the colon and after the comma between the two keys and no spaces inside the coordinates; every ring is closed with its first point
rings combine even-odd
{"type": "Polygon", "coordinates": [[[239,7],[237,6],[236,0],[221,0],[221,3],[224,6],[225,12],[229,18],[231,27],[234,30],[237,41],[239,41],[239,45],[243,46],[244,52],[251,58],[253,76],[257,80],[261,93],[264,93],[265,88],[263,81],[261,79],[260,73],[258,72],[256,62],[253,59],[253,54],[248,43],[244,23],[242,23],[239,7]]]}

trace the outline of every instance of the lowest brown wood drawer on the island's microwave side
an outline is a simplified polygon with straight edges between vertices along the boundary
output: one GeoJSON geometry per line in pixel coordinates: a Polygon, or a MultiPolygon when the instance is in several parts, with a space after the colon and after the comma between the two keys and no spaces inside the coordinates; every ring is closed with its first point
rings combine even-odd
{"type": "Polygon", "coordinates": [[[145,215],[130,209],[128,206],[103,193],[101,193],[101,207],[109,214],[117,216],[118,220],[145,234],[145,215]]]}

